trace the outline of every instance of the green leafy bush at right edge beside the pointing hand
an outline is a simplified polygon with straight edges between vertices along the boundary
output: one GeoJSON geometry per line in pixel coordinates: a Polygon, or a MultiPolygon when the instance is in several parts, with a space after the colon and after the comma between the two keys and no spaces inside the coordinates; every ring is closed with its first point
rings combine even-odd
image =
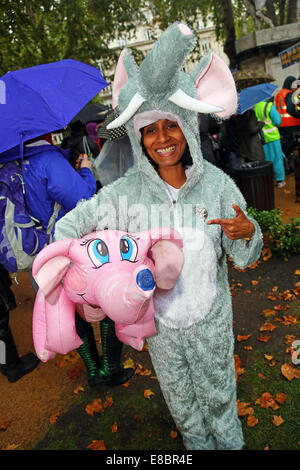
{"type": "Polygon", "coordinates": [[[300,218],[290,218],[289,223],[281,220],[282,211],[259,211],[253,207],[248,214],[259,224],[263,234],[264,243],[279,257],[300,254],[300,218]]]}

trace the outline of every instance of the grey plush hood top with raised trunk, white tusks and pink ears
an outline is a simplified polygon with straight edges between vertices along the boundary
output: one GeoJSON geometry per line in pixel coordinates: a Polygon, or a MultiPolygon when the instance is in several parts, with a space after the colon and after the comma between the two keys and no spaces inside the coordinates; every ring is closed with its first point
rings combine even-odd
{"type": "Polygon", "coordinates": [[[220,118],[233,114],[237,108],[234,79],[216,54],[204,56],[191,74],[182,71],[196,41],[186,24],[175,22],[158,38],[139,69],[130,51],[125,49],[113,83],[113,106],[119,108],[120,115],[107,128],[125,124],[146,105],[148,110],[158,109],[160,103],[164,103],[165,111],[169,103],[178,115],[180,109],[220,118]]]}

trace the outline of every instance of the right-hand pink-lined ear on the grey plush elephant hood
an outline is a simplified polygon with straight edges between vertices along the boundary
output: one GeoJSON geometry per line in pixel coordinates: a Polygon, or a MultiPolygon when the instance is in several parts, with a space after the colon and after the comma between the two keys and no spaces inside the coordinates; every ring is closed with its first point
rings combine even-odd
{"type": "Polygon", "coordinates": [[[237,108],[237,91],[234,78],[225,62],[214,52],[206,54],[190,73],[195,82],[197,97],[222,108],[216,116],[231,116],[237,108]]]}

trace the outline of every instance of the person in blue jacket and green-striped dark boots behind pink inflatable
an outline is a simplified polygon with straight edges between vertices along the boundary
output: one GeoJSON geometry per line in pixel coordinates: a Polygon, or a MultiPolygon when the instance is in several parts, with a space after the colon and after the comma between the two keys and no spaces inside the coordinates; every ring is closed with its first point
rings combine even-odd
{"type": "MultiPolygon", "coordinates": [[[[16,158],[18,150],[16,150],[16,158]]],[[[11,152],[10,152],[11,153],[11,152]]],[[[91,172],[92,163],[85,155],[77,171],[70,165],[66,152],[52,144],[51,134],[25,142],[22,175],[25,186],[25,200],[29,213],[47,228],[49,219],[55,217],[55,224],[79,201],[90,199],[97,191],[96,180],[91,172]],[[56,210],[56,211],[55,211],[56,210]]],[[[32,279],[35,290],[38,286],[32,279]]],[[[99,385],[127,381],[132,369],[122,369],[120,351],[122,343],[114,334],[114,323],[100,322],[101,337],[106,350],[99,358],[93,328],[76,312],[76,327],[83,345],[78,348],[87,370],[89,384],[99,385]],[[94,364],[86,353],[87,344],[93,350],[94,364]],[[113,376],[113,379],[112,379],[113,376]]]]}

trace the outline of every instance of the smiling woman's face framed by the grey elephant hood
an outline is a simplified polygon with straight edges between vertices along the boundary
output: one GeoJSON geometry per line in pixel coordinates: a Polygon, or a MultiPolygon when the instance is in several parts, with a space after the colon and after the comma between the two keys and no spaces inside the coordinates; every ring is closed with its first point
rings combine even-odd
{"type": "Polygon", "coordinates": [[[175,121],[160,119],[143,128],[145,149],[159,168],[177,165],[186,147],[186,140],[175,121]]]}

